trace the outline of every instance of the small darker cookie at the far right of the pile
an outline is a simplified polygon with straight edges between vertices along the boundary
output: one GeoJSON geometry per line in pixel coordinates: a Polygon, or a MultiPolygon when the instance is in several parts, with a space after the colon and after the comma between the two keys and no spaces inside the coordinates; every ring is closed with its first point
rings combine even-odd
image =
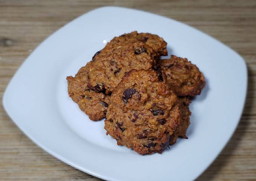
{"type": "Polygon", "coordinates": [[[186,58],[171,55],[170,59],[160,60],[159,66],[178,96],[199,95],[205,86],[203,73],[186,58]]]}

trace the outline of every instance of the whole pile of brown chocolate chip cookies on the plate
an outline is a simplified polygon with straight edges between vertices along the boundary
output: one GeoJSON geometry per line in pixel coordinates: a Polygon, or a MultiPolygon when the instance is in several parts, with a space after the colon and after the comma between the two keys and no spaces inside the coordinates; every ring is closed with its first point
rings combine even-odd
{"type": "Polygon", "coordinates": [[[187,138],[190,98],[205,81],[186,58],[166,56],[167,43],[136,31],[114,37],[75,77],[69,96],[93,121],[105,119],[107,134],[139,154],[162,153],[187,138]]]}

